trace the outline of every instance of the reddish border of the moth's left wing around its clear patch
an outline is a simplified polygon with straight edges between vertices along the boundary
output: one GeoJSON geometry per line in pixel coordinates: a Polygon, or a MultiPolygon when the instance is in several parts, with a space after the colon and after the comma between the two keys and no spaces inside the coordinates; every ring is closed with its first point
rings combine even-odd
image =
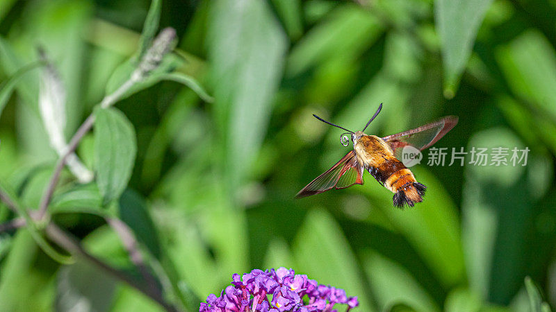
{"type": "Polygon", "coordinates": [[[322,173],[322,175],[319,175],[315,180],[307,184],[306,187],[295,195],[295,198],[304,198],[306,196],[320,194],[332,188],[345,189],[354,184],[363,184],[363,168],[361,168],[357,162],[355,151],[351,150],[350,153],[347,153],[339,162],[334,164],[332,168],[329,168],[325,173],[322,173]],[[351,184],[338,187],[338,181],[342,175],[350,171],[350,169],[353,169],[357,174],[355,181],[351,184]]]}

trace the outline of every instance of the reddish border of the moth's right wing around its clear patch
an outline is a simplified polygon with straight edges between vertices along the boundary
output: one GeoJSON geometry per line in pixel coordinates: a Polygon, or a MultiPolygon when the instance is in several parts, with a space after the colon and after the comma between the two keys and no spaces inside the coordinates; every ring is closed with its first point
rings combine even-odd
{"type": "Polygon", "coordinates": [[[386,141],[387,144],[392,148],[392,150],[396,150],[398,148],[403,148],[404,146],[414,146],[419,150],[424,150],[435,144],[436,141],[441,139],[448,131],[452,130],[452,128],[457,125],[458,117],[457,116],[445,116],[437,121],[433,121],[432,123],[427,123],[426,125],[421,125],[418,128],[407,130],[404,132],[396,133],[395,135],[389,135],[387,137],[383,137],[382,139],[386,141]],[[434,137],[430,141],[425,144],[411,144],[411,137],[416,135],[418,132],[423,132],[425,130],[430,130],[432,128],[439,128],[439,132],[436,133],[434,137]],[[416,146],[417,145],[417,146],[416,146]],[[421,146],[420,146],[421,145],[421,146]]]}

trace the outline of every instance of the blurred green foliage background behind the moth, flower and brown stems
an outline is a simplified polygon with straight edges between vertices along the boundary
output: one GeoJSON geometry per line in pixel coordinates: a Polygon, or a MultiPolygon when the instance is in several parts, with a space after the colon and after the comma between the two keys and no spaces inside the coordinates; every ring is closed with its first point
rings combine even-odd
{"type": "MultiPolygon", "coordinates": [[[[556,306],[555,1],[0,1],[0,178],[29,209],[58,157],[39,46],[65,89],[66,139],[97,117],[77,149],[95,181],[64,171],[52,220],[140,280],[106,224],[122,220],[177,309],[279,266],[345,288],[359,311],[556,306]],[[174,53],[95,110],[167,26],[174,53]],[[436,147],[528,147],[527,166],[423,162],[411,170],[427,196],[411,209],[367,174],[294,200],[347,152],[311,114],[359,129],[379,103],[369,134],[455,114],[436,147]]],[[[4,225],[17,218],[0,207],[4,225]]],[[[80,257],[60,265],[37,230],[0,233],[0,310],[164,309],[80,257]]]]}

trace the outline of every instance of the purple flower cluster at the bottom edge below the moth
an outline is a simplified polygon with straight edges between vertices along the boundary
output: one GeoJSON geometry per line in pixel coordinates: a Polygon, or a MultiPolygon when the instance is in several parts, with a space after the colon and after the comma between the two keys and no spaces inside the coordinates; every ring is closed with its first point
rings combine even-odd
{"type": "Polygon", "coordinates": [[[220,297],[209,295],[199,312],[334,312],[334,304],[347,304],[347,312],[359,305],[357,297],[347,297],[343,289],[318,285],[292,269],[255,269],[232,279],[233,286],[220,297]]]}

